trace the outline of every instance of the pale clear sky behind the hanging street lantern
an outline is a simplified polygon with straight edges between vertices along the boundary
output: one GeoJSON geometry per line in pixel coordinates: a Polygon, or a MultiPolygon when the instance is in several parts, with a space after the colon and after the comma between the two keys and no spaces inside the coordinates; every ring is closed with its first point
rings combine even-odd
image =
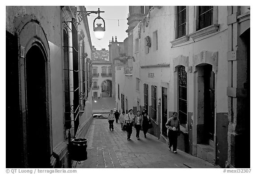
{"type": "MultiPolygon", "coordinates": [[[[85,6],[85,8],[86,11],[98,11],[98,8],[100,8],[100,11],[104,11],[104,13],[100,13],[100,17],[105,20],[106,27],[104,38],[102,40],[97,40],[93,32],[93,20],[98,14],[92,13],[90,16],[87,16],[92,45],[96,47],[96,50],[101,50],[102,48],[108,50],[109,40],[112,40],[112,36],[114,37],[114,41],[116,37],[118,42],[123,42],[125,38],[128,37],[128,34],[125,31],[128,29],[127,17],[129,6],[85,6]]],[[[95,26],[98,23],[101,23],[103,27],[104,24],[102,20],[97,19],[95,21],[95,26]]]]}

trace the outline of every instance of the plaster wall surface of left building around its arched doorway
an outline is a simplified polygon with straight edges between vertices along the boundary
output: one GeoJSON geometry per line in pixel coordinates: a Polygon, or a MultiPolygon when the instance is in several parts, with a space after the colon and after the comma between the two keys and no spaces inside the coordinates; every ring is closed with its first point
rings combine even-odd
{"type": "MultiPolygon", "coordinates": [[[[65,11],[66,16],[61,11],[60,6],[6,6],[6,31],[14,36],[18,36],[17,43],[12,45],[12,47],[17,47],[18,44],[24,47],[26,55],[30,48],[31,43],[39,44],[42,47],[42,52],[45,52],[46,58],[46,93],[47,93],[47,131],[48,141],[47,147],[49,150],[49,156],[44,161],[48,167],[68,167],[68,148],[65,137],[64,128],[64,61],[63,61],[63,26],[62,21],[71,20],[72,12],[74,12],[74,6],[68,7],[68,11],[65,11]],[[18,43],[19,41],[19,43],[18,43]]],[[[69,26],[71,28],[71,26],[69,26]]],[[[86,33],[84,31],[84,33],[86,33]]],[[[70,34],[69,34],[70,35],[70,34]]],[[[88,36],[86,36],[88,39],[88,36]]],[[[69,44],[72,43],[72,37],[70,37],[69,44]]],[[[88,55],[90,55],[90,45],[86,42],[86,50],[88,55]]],[[[24,59],[20,57],[15,57],[17,59],[19,67],[19,92],[20,92],[20,103],[16,106],[20,109],[21,115],[17,115],[17,119],[20,119],[20,123],[17,123],[17,127],[20,127],[20,138],[23,142],[20,144],[20,149],[15,154],[20,155],[19,160],[16,162],[16,166],[19,167],[29,167],[28,166],[28,149],[27,147],[27,134],[28,130],[26,128],[26,93],[25,84],[26,79],[23,75],[26,72],[24,68],[24,59]]],[[[72,54],[70,54],[70,69],[72,69],[72,54]]],[[[72,73],[70,73],[70,87],[72,87],[72,73]]],[[[36,96],[36,95],[35,95],[36,96]]],[[[72,95],[71,95],[72,96],[72,95]]],[[[17,97],[17,96],[16,96],[17,97]]],[[[89,98],[88,101],[92,99],[89,98]]],[[[35,98],[36,101],[36,98],[35,98]]],[[[88,102],[91,103],[91,102],[88,102]]],[[[72,105],[72,97],[71,97],[72,105]]],[[[92,107],[88,104],[86,116],[83,115],[81,118],[81,125],[89,123],[92,118],[92,107]]],[[[36,114],[36,113],[35,113],[36,114]]],[[[40,124],[38,124],[40,126],[40,124]]],[[[88,126],[88,125],[87,125],[88,126]]],[[[82,130],[81,130],[82,131],[82,130]]],[[[12,134],[16,134],[13,130],[12,134]]],[[[40,137],[44,138],[44,137],[40,137]]],[[[39,142],[40,143],[40,142],[39,142]]],[[[39,147],[40,148],[40,147],[39,147]]],[[[44,147],[45,148],[45,147],[44,147]]],[[[40,152],[39,150],[38,152],[40,152]]],[[[47,153],[48,153],[47,152],[47,153]]],[[[12,158],[15,157],[12,155],[12,158]]],[[[40,155],[38,155],[38,161],[40,161],[40,155]]],[[[12,167],[15,167],[13,165],[12,167]]],[[[31,167],[31,166],[30,166],[31,167]]]]}

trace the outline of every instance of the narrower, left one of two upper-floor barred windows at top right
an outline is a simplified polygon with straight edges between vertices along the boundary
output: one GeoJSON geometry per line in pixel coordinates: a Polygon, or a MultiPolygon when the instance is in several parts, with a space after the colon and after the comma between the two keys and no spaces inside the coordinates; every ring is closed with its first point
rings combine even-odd
{"type": "Polygon", "coordinates": [[[177,37],[186,35],[186,6],[177,6],[177,37]]]}

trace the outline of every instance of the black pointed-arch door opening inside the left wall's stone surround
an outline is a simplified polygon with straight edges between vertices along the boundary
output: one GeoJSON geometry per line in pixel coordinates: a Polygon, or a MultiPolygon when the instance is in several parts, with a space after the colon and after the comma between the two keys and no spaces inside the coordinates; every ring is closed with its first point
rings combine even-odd
{"type": "Polygon", "coordinates": [[[50,164],[46,59],[37,45],[26,54],[25,71],[28,167],[45,168],[50,164]]]}

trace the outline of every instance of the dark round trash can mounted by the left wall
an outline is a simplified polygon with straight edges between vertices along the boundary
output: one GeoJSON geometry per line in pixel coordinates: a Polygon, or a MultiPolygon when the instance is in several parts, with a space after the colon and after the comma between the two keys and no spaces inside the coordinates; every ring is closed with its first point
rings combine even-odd
{"type": "Polygon", "coordinates": [[[74,138],[69,146],[69,157],[74,161],[87,160],[87,139],[74,138]]]}

